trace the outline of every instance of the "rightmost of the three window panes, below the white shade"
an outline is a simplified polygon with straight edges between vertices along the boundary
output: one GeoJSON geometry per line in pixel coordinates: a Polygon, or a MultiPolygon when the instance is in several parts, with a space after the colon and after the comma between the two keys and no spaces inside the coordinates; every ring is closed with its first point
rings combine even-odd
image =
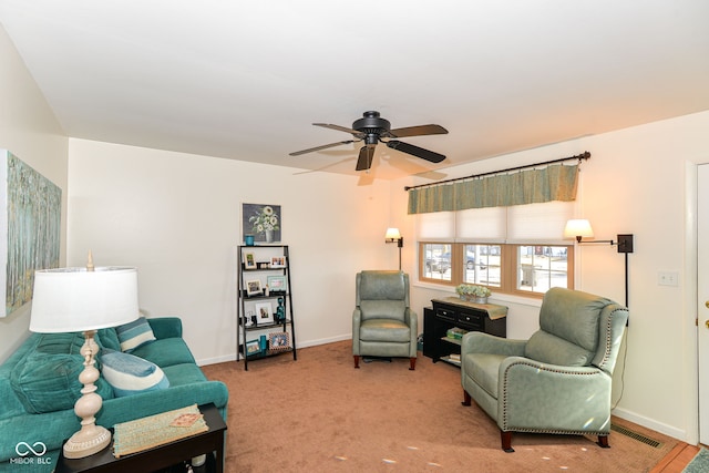
{"type": "Polygon", "coordinates": [[[544,294],[553,287],[567,287],[567,263],[565,246],[518,246],[517,289],[544,294]]]}

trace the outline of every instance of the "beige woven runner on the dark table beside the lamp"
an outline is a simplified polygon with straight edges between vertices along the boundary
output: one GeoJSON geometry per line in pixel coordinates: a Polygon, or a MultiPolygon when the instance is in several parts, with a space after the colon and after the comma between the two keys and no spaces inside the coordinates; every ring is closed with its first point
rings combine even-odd
{"type": "Polygon", "coordinates": [[[115,424],[113,456],[142,452],[208,430],[197,404],[115,424]]]}

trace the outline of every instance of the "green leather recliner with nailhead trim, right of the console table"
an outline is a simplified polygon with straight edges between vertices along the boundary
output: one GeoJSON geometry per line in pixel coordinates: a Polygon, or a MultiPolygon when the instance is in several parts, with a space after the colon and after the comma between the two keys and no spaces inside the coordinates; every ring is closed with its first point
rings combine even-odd
{"type": "Polygon", "coordinates": [[[609,299],[549,289],[530,340],[463,336],[463,405],[474,399],[497,422],[505,452],[514,452],[512,432],[594,434],[607,448],[612,376],[627,320],[628,309],[609,299]]]}

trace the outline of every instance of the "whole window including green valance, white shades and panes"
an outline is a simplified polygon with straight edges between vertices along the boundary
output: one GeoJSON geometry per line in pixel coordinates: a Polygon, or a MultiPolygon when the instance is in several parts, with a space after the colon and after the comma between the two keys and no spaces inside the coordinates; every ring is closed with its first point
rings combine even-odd
{"type": "Polygon", "coordinates": [[[413,189],[419,279],[535,297],[573,288],[574,245],[563,234],[577,186],[578,166],[559,165],[413,189]]]}

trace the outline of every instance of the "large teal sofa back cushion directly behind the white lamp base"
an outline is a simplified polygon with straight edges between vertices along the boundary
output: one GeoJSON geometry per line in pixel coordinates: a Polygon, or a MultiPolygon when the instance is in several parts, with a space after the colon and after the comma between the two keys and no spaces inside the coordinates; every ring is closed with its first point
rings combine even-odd
{"type": "MultiPolygon", "coordinates": [[[[33,349],[18,361],[10,373],[10,383],[29,413],[54,412],[73,409],[81,397],[83,384],[79,374],[84,358],[80,350],[81,333],[39,333],[30,341],[33,349]]],[[[113,389],[103,379],[96,381],[103,399],[113,398],[113,389]]]]}

